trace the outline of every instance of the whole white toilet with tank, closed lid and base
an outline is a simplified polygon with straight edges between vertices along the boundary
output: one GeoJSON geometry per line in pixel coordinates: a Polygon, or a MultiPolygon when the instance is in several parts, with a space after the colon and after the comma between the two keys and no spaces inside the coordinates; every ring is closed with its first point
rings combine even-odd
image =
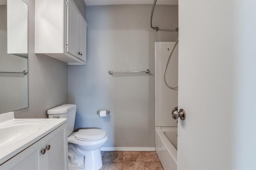
{"type": "Polygon", "coordinates": [[[102,167],[100,147],[108,140],[106,131],[100,128],[86,128],[73,132],[76,105],[60,105],[48,110],[47,114],[48,118],[67,118],[68,169],[99,170],[102,167]]]}

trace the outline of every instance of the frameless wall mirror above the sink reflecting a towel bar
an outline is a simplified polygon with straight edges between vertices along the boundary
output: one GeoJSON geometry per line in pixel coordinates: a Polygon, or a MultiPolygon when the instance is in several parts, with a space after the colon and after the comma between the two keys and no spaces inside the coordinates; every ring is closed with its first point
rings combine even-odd
{"type": "Polygon", "coordinates": [[[0,0],[0,113],[28,107],[28,5],[0,0]]]}

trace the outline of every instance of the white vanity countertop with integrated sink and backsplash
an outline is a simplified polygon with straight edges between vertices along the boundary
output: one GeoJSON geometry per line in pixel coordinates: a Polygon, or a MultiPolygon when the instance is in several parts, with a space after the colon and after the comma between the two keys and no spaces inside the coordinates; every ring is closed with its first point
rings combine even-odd
{"type": "Polygon", "coordinates": [[[14,112],[0,115],[0,165],[34,144],[67,119],[15,119],[14,112]]]}

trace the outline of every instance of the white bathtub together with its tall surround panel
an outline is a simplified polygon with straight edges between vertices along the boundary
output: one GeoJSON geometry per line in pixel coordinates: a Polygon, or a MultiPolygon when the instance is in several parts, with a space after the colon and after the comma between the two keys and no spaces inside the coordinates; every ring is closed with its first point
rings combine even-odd
{"type": "MultiPolygon", "coordinates": [[[[164,67],[175,42],[155,43],[155,95],[156,95],[156,153],[164,169],[177,170],[177,125],[170,111],[178,105],[178,89],[169,89],[164,83],[164,67]],[[168,135],[167,135],[168,134],[168,135]]],[[[166,69],[166,82],[172,87],[178,85],[178,45],[166,69]]]]}

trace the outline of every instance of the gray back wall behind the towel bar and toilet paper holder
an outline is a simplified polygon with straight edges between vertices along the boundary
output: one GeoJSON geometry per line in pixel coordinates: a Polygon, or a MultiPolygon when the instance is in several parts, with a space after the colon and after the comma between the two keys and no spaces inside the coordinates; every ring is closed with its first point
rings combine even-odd
{"type": "Polygon", "coordinates": [[[104,147],[154,147],[154,42],[176,41],[178,6],[87,6],[87,65],[68,66],[69,103],[77,105],[75,128],[107,131],[104,147]],[[169,31],[168,31],[169,30],[169,31]],[[171,30],[171,31],[170,31],[171,30]],[[151,74],[108,75],[108,70],[150,69],[151,74]],[[110,109],[99,117],[98,109],[110,109]]]}

